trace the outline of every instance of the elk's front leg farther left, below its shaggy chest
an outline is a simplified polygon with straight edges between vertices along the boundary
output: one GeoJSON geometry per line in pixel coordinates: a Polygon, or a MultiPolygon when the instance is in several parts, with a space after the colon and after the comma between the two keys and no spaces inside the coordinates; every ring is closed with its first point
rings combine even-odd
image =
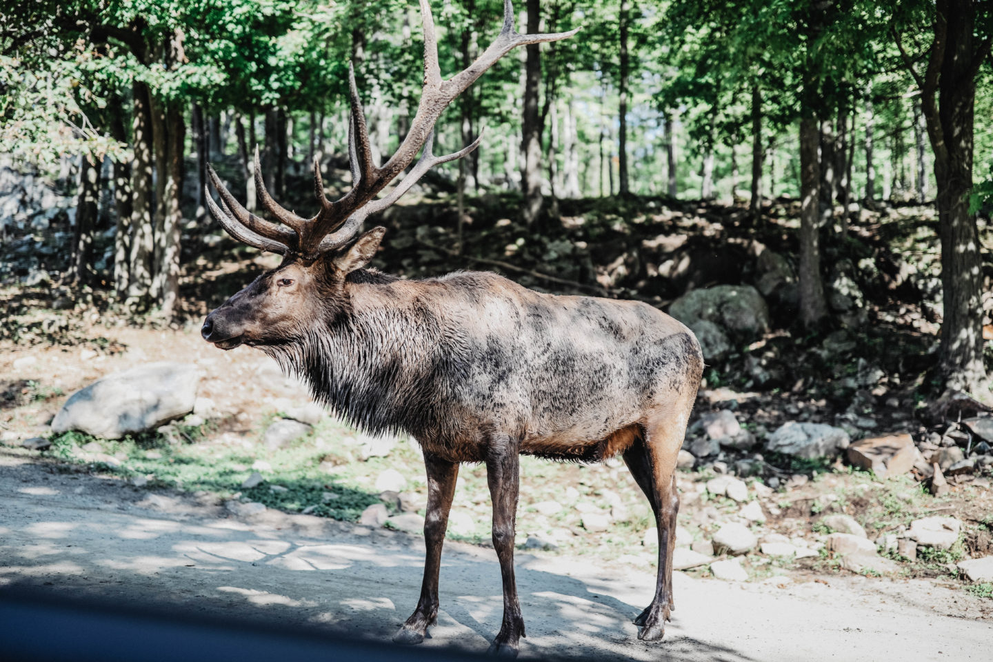
{"type": "Polygon", "coordinates": [[[417,608],[410,614],[400,631],[393,636],[396,643],[414,644],[424,641],[429,625],[438,617],[438,573],[441,570],[441,548],[448,529],[448,513],[455,495],[455,480],[459,464],[424,454],[428,477],[428,507],[424,518],[424,582],[417,608]]]}

